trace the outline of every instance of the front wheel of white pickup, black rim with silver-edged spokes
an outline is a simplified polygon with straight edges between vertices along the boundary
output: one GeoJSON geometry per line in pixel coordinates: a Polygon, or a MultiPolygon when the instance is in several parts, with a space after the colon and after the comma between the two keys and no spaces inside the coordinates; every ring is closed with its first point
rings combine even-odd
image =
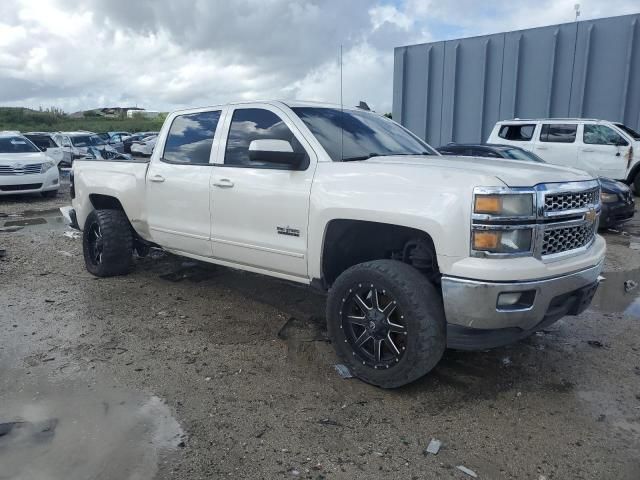
{"type": "Polygon", "coordinates": [[[336,353],[361,380],[396,388],[427,374],[446,347],[442,298],[395,260],[361,263],[338,277],[327,301],[336,353]]]}

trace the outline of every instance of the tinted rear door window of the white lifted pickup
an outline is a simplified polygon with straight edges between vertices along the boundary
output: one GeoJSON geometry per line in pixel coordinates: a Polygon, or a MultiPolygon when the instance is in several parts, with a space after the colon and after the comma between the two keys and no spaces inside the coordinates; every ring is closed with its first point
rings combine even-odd
{"type": "Polygon", "coordinates": [[[171,123],[162,161],[208,165],[219,120],[220,110],[178,115],[171,123]]]}

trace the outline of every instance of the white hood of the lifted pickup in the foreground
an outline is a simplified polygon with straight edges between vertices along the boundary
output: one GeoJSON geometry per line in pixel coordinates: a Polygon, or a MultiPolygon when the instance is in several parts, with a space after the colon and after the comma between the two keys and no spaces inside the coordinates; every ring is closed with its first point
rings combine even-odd
{"type": "Polygon", "coordinates": [[[430,169],[458,169],[465,172],[476,172],[496,177],[509,187],[533,187],[539,183],[578,182],[595,178],[587,172],[574,168],[502,158],[407,155],[373,157],[364,161],[367,163],[419,165],[430,169]]]}

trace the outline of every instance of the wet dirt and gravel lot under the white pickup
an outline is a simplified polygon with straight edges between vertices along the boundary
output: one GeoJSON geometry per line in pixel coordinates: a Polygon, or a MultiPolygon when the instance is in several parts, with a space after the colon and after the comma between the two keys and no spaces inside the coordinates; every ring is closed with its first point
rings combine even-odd
{"type": "Polygon", "coordinates": [[[583,315],[384,391],[305,288],[162,253],[93,278],[68,203],[0,199],[31,224],[0,232],[0,479],[640,478],[640,222],[583,315]]]}

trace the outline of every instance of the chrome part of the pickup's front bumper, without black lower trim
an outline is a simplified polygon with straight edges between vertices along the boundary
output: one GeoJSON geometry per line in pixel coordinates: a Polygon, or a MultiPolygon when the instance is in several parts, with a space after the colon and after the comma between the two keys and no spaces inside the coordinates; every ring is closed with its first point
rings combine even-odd
{"type": "MultiPolygon", "coordinates": [[[[603,261],[568,275],[522,282],[485,282],[444,276],[442,296],[447,323],[473,330],[530,331],[546,318],[554,317],[555,321],[572,314],[571,302],[577,300],[570,294],[576,292],[577,295],[581,289],[597,285],[602,264],[603,261]],[[499,307],[498,297],[509,292],[527,292],[528,301],[524,305],[499,307]],[[565,298],[564,305],[560,305],[565,298]]],[[[593,293],[590,292],[591,296],[593,293]]]]}

